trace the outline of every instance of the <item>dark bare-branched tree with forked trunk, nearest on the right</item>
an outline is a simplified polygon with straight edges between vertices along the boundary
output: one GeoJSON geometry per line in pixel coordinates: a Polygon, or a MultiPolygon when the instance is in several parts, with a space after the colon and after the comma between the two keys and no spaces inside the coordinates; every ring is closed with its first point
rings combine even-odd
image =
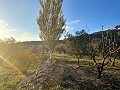
{"type": "MultiPolygon", "coordinates": [[[[94,61],[97,72],[98,72],[98,78],[101,78],[102,72],[104,70],[104,66],[108,65],[109,62],[112,62],[112,55],[114,53],[117,53],[119,50],[119,47],[116,46],[116,39],[111,40],[109,35],[109,30],[107,33],[103,31],[102,26],[102,35],[101,40],[94,40],[93,43],[90,44],[90,50],[88,50],[91,54],[92,60],[94,61]],[[101,54],[101,62],[98,62],[96,57],[97,55],[101,54]]],[[[114,55],[114,61],[116,59],[116,54],[114,55]]]]}

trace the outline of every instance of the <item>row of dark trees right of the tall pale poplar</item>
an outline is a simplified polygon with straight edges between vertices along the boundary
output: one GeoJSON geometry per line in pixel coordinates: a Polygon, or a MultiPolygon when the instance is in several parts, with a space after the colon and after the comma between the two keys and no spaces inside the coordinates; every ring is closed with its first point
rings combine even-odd
{"type": "Polygon", "coordinates": [[[115,66],[115,61],[120,58],[120,31],[106,30],[99,33],[88,34],[85,30],[77,31],[75,35],[67,34],[65,50],[69,55],[77,58],[80,66],[80,58],[88,57],[95,63],[98,78],[109,63],[115,66]],[[98,60],[99,59],[99,60],[98,60]]]}

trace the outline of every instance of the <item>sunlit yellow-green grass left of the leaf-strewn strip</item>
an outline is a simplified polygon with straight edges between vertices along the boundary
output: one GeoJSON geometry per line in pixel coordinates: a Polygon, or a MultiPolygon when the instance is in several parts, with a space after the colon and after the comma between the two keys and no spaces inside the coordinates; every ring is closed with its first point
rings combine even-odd
{"type": "Polygon", "coordinates": [[[44,64],[43,57],[38,60],[19,60],[23,64],[16,63],[15,60],[4,61],[0,58],[0,90],[16,90],[17,85],[30,74],[39,70],[44,64]],[[41,61],[43,60],[43,61],[41,61]],[[26,61],[28,61],[26,63],[26,61]],[[17,69],[17,70],[16,70],[17,69]]]}

